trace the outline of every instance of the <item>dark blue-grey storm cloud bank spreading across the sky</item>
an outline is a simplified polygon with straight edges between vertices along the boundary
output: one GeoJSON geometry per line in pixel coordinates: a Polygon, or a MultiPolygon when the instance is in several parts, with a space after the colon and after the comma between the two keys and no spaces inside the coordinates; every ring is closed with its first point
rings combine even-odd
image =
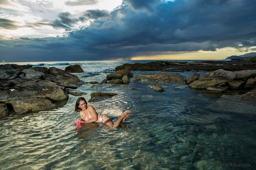
{"type": "Polygon", "coordinates": [[[55,60],[64,61],[70,55],[73,56],[71,60],[107,60],[136,55],[214,51],[223,47],[246,51],[255,46],[254,1],[123,2],[123,6],[110,15],[104,11],[87,11],[74,19],[69,13],[61,13],[60,19],[54,22],[55,27],[69,29],[79,20],[96,20],[90,27],[70,32],[68,37],[20,40],[19,50],[25,50],[22,46],[26,44],[26,49],[43,50],[43,54],[61,56],[55,60]],[[34,41],[36,43],[32,43],[34,41]]]}

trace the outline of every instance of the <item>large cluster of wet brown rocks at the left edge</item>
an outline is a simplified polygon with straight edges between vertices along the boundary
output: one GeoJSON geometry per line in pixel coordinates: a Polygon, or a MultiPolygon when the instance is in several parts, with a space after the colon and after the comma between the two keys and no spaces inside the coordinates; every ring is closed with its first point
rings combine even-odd
{"type": "Polygon", "coordinates": [[[83,84],[76,75],[55,67],[0,65],[0,117],[61,107],[67,88],[83,84]]]}

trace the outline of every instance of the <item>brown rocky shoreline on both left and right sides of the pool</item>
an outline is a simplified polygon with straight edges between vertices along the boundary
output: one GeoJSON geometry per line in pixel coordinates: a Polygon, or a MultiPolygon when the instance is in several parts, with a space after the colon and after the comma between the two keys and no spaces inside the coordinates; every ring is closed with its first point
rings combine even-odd
{"type": "MultiPolygon", "coordinates": [[[[0,65],[0,118],[10,114],[46,111],[62,107],[68,100],[70,89],[85,82],[69,72],[83,72],[79,65],[66,67],[65,71],[55,67],[32,67],[16,64],[0,65]]],[[[161,84],[180,84],[198,90],[212,92],[244,90],[242,95],[225,95],[230,100],[256,102],[256,63],[249,59],[236,61],[207,62],[150,62],[145,64],[123,64],[108,74],[101,83],[128,84],[130,81],[152,83],[148,87],[164,91],[161,84]],[[156,71],[152,74],[137,74],[133,71],[156,71]],[[195,72],[191,77],[172,71],[195,72]],[[209,71],[200,75],[201,71],[209,71]]],[[[235,94],[235,93],[234,93],[235,94]]],[[[93,93],[92,99],[117,94],[93,93]]]]}

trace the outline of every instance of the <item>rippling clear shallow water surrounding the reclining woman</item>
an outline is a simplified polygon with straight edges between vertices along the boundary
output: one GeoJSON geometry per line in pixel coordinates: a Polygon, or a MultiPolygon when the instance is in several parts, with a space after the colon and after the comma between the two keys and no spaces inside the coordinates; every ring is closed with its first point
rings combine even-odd
{"type": "MultiPolygon", "coordinates": [[[[76,74],[79,78],[101,82],[126,62],[74,63],[85,71],[76,74]]],[[[219,100],[220,94],[188,86],[163,85],[164,92],[147,86],[133,81],[121,86],[86,83],[75,90],[85,92],[87,100],[96,91],[117,93],[89,103],[114,121],[130,109],[132,114],[117,129],[90,123],[75,131],[79,116],[73,95],[62,108],[1,120],[0,169],[256,168],[254,104],[219,100]]]]}

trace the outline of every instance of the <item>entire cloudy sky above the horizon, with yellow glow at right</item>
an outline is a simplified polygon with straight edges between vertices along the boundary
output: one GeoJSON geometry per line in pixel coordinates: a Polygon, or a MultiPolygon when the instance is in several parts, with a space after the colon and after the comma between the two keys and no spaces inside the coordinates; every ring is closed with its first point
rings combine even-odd
{"type": "Polygon", "coordinates": [[[221,60],[256,52],[255,0],[0,0],[0,62],[221,60]]]}

